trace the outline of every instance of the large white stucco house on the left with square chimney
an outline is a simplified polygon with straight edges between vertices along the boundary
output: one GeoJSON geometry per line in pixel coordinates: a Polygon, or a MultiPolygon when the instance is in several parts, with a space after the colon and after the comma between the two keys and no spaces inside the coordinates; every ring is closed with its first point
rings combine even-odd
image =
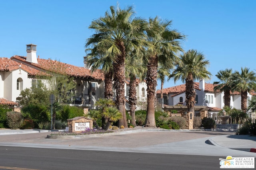
{"type": "MultiPolygon", "coordinates": [[[[82,107],[87,111],[93,109],[99,98],[104,98],[104,75],[100,70],[93,73],[84,62],[84,67],[62,63],[52,59],[41,59],[36,55],[36,45],[26,45],[27,56],[14,55],[0,58],[0,104],[18,108],[20,92],[25,88],[36,87],[38,82],[47,86],[44,76],[54,72],[67,74],[76,81],[76,96],[70,99],[70,106],[82,107]]],[[[125,98],[128,99],[129,81],[125,84],[125,98]]],[[[138,100],[146,99],[146,83],[138,81],[138,100]]],[[[126,105],[129,109],[129,105],[126,105]]]]}

